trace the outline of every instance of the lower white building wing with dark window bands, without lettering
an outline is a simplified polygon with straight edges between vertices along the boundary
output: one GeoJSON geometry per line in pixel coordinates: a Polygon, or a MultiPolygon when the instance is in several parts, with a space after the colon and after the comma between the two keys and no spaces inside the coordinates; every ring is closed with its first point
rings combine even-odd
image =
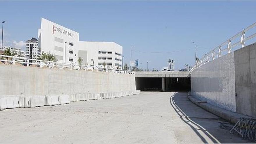
{"type": "Polygon", "coordinates": [[[79,41],[78,55],[83,59],[83,65],[99,65],[109,68],[122,67],[123,47],[115,42],[85,42],[79,41]]]}

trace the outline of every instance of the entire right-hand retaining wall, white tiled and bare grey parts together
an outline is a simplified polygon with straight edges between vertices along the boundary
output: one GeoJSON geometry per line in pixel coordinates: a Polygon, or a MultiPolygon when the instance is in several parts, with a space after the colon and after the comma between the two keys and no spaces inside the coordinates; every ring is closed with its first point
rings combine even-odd
{"type": "Polygon", "coordinates": [[[191,72],[191,94],[215,106],[256,118],[256,43],[191,72]]]}

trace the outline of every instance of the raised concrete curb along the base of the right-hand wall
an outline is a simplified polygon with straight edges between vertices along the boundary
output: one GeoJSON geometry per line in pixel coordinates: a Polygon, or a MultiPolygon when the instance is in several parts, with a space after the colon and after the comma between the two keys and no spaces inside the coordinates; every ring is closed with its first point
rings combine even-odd
{"type": "Polygon", "coordinates": [[[188,95],[188,99],[193,102],[194,104],[196,104],[197,106],[201,107],[202,109],[205,109],[206,111],[209,111],[210,113],[213,113],[214,115],[217,115],[218,117],[223,118],[224,120],[227,120],[228,122],[232,123],[232,124],[236,124],[239,120],[239,118],[243,117],[243,118],[252,118],[243,114],[239,114],[239,113],[235,113],[232,111],[228,111],[222,108],[219,108],[217,106],[214,106],[212,104],[208,104],[208,103],[202,103],[202,101],[200,101],[199,99],[188,95]]]}

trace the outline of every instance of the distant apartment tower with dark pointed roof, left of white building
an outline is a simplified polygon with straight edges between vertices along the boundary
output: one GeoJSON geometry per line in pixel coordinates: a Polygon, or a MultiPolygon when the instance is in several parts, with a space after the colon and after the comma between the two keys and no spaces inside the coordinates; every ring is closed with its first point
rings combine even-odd
{"type": "Polygon", "coordinates": [[[40,55],[40,48],[38,48],[38,40],[32,38],[26,41],[26,58],[37,59],[40,55]]]}

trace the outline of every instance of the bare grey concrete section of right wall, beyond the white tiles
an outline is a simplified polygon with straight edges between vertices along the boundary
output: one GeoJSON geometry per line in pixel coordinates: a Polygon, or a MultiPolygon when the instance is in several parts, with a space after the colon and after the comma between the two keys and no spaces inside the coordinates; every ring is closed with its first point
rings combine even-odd
{"type": "Polygon", "coordinates": [[[256,43],[234,52],[237,112],[256,118],[256,43]]]}

